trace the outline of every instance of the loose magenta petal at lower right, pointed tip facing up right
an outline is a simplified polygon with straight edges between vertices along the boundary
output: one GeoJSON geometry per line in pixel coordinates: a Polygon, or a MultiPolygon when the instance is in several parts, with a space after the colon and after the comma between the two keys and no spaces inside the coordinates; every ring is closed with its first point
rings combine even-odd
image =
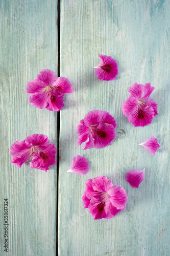
{"type": "Polygon", "coordinates": [[[130,170],[126,175],[126,180],[132,187],[139,187],[140,182],[144,180],[144,170],[130,170]]]}

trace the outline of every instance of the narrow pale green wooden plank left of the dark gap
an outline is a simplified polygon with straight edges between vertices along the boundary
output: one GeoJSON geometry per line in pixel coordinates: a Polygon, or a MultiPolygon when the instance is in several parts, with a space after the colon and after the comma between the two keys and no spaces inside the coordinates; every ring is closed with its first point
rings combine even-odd
{"type": "Polygon", "coordinates": [[[9,148],[30,134],[57,146],[57,113],[29,103],[26,86],[42,69],[57,73],[57,1],[1,1],[1,255],[56,255],[56,165],[45,173],[10,163],[9,148]],[[8,198],[8,253],[4,252],[8,198]]]}

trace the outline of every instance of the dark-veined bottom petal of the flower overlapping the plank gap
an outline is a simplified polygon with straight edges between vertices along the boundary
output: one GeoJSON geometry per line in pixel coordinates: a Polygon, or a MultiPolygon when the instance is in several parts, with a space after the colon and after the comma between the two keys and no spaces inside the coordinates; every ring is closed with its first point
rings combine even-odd
{"type": "Polygon", "coordinates": [[[58,92],[51,92],[51,96],[48,97],[48,105],[46,106],[47,110],[50,111],[60,111],[62,107],[64,106],[64,94],[59,94],[58,92]]]}

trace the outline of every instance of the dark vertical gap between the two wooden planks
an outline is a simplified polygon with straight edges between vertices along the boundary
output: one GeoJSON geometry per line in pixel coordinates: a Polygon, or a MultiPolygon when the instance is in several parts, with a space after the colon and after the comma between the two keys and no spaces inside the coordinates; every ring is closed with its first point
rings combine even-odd
{"type": "MultiPolygon", "coordinates": [[[[57,42],[58,42],[58,77],[59,77],[60,76],[60,0],[58,0],[58,4],[57,4],[57,42]]],[[[60,142],[60,112],[57,112],[56,256],[58,256],[59,142],[60,142]]]]}

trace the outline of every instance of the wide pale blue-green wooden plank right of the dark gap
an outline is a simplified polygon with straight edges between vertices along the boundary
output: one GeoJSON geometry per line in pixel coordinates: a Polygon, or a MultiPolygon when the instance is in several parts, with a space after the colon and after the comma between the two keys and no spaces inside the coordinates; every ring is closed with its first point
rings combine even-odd
{"type": "Polygon", "coordinates": [[[59,255],[169,255],[169,8],[168,1],[61,0],[60,75],[74,94],[61,111],[59,165],[59,255]],[[118,62],[114,81],[100,81],[93,67],[99,55],[118,62]],[[158,116],[151,125],[133,127],[122,113],[134,82],[151,82],[158,116]],[[82,151],[77,125],[98,109],[114,116],[116,139],[103,149],[82,151]],[[158,138],[152,156],[139,143],[158,138]],[[71,159],[90,162],[85,176],[66,173],[71,159]],[[132,188],[125,180],[131,169],[145,167],[145,180],[132,188]],[[126,210],[111,220],[93,220],[83,209],[85,182],[107,176],[125,188],[126,210]]]}

